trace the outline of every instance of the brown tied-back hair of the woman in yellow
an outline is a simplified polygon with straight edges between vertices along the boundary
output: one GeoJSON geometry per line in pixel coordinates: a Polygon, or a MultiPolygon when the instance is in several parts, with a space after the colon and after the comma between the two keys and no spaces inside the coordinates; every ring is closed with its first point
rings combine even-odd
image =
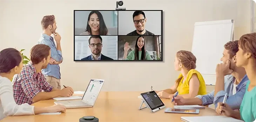
{"type": "MultiPolygon", "coordinates": [[[[187,70],[195,69],[196,68],[196,57],[192,52],[189,51],[178,51],[176,53],[177,59],[180,61],[180,63],[183,64],[183,66],[187,70]]],[[[180,83],[181,79],[183,76],[180,78],[176,79],[176,87],[178,87],[178,84],[180,83]]]]}

